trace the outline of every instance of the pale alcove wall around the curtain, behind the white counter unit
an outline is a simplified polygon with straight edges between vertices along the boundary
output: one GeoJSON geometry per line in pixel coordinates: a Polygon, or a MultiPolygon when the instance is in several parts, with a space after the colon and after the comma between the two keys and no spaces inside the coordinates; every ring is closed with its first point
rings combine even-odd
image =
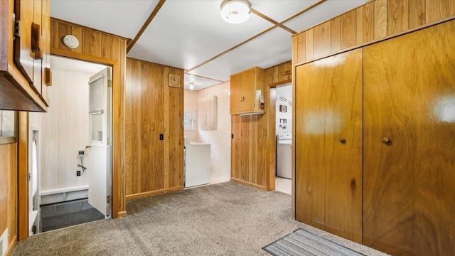
{"type": "MultiPolygon", "coordinates": [[[[210,131],[197,131],[197,136],[191,139],[191,142],[210,143],[211,151],[211,170],[212,176],[222,178],[226,181],[230,180],[230,82],[224,82],[220,85],[208,87],[203,90],[198,90],[197,97],[194,93],[185,90],[185,108],[198,106],[198,98],[201,97],[218,97],[218,113],[217,113],[217,129],[210,131]]],[[[197,115],[196,115],[197,116],[197,115]]],[[[185,132],[186,137],[191,137],[193,134],[185,132]]]]}

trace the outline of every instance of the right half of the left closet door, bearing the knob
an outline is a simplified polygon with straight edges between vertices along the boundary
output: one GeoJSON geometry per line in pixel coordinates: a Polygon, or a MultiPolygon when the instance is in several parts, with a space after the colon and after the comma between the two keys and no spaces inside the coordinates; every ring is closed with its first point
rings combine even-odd
{"type": "Polygon", "coordinates": [[[363,49],[323,60],[326,78],[326,231],[362,242],[363,49]]]}

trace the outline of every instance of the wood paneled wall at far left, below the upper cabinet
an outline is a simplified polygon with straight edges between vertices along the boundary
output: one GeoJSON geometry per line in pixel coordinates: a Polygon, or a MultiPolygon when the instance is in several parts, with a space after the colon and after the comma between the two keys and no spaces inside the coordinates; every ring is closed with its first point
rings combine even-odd
{"type": "Polygon", "coordinates": [[[18,234],[17,181],[17,143],[0,144],[0,235],[8,228],[10,252],[18,234]]]}

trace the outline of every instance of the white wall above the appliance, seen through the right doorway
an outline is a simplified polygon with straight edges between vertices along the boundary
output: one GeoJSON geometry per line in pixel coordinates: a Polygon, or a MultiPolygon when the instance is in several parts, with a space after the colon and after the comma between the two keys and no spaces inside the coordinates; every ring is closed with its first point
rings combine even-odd
{"type": "Polygon", "coordinates": [[[285,85],[277,87],[276,89],[276,111],[277,111],[277,122],[276,122],[276,133],[292,132],[292,86],[285,85]],[[287,112],[279,112],[279,105],[287,107],[287,112]],[[286,128],[280,127],[280,119],[286,119],[286,128]]]}

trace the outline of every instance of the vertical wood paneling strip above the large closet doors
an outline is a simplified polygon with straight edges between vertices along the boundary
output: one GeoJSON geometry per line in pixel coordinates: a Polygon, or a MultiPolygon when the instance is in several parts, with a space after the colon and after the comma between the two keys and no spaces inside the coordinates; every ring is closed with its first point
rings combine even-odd
{"type": "Polygon", "coordinates": [[[455,0],[375,0],[292,38],[293,65],[455,15],[455,0]]]}

